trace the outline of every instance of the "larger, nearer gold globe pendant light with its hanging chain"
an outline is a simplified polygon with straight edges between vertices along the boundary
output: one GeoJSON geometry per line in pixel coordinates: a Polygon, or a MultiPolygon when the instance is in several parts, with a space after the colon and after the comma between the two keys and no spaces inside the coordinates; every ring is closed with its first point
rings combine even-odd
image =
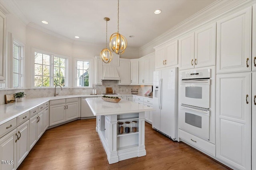
{"type": "Polygon", "coordinates": [[[109,46],[110,49],[117,55],[124,53],[127,47],[126,38],[119,33],[119,0],[118,0],[118,12],[117,12],[117,32],[110,36],[109,46]]]}

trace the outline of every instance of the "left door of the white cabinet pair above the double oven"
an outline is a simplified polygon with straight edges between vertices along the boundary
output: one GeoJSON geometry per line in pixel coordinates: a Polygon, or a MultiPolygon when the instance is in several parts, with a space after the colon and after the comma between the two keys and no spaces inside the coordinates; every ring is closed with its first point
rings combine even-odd
{"type": "Polygon", "coordinates": [[[194,33],[179,39],[179,58],[181,60],[180,70],[194,68],[194,33]]]}

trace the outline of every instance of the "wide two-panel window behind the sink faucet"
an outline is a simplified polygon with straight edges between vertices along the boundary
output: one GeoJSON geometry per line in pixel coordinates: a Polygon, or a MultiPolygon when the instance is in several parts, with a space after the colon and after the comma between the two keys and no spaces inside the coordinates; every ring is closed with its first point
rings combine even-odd
{"type": "Polygon", "coordinates": [[[66,86],[66,58],[37,51],[34,55],[35,87],[66,86]]]}

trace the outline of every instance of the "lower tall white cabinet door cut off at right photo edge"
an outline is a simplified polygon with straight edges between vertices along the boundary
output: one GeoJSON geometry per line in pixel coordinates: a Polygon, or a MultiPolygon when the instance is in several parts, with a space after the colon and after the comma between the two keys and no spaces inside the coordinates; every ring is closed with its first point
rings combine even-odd
{"type": "Polygon", "coordinates": [[[256,72],[252,72],[252,170],[256,169],[256,72]]]}

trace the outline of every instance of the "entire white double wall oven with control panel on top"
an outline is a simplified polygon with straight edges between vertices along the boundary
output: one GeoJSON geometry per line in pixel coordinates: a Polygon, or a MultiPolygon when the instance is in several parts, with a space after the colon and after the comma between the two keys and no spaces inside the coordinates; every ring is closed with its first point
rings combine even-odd
{"type": "Polygon", "coordinates": [[[210,139],[211,69],[180,73],[179,128],[210,139]]]}

